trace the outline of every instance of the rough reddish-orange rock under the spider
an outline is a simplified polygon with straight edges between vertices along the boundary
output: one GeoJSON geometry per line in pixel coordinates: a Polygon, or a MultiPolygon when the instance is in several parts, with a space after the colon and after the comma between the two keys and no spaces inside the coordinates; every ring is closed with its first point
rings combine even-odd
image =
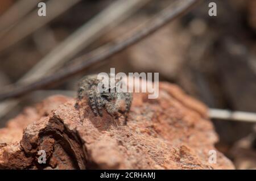
{"type": "Polygon", "coordinates": [[[170,83],[159,89],[158,99],[134,94],[127,119],[95,117],[86,100],[75,108],[60,95],[26,108],[0,129],[0,169],[234,169],[214,148],[207,107],[170,83]]]}

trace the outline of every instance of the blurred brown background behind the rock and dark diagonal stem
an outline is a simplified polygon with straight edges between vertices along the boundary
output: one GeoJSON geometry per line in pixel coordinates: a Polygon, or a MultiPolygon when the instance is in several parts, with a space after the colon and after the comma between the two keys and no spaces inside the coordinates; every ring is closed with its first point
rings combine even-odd
{"type": "MultiPolygon", "coordinates": [[[[136,30],[171,0],[1,0],[0,91],[76,64],[76,57],[136,30]],[[46,16],[38,16],[39,2],[46,16]],[[130,2],[133,2],[129,4],[130,2]]],[[[203,1],[104,64],[58,85],[0,103],[0,127],[26,106],[52,94],[75,96],[83,75],[159,72],[210,108],[256,112],[256,1],[203,1]],[[217,16],[209,16],[216,2],[217,16]]],[[[212,120],[216,145],[237,169],[256,169],[256,126],[212,120]]]]}

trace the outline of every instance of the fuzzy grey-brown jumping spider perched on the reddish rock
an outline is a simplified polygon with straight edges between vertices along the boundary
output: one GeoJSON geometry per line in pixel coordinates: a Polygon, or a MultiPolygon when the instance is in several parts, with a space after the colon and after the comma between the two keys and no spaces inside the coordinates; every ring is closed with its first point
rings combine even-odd
{"type": "MultiPolygon", "coordinates": [[[[109,74],[109,76],[113,75],[109,74]]],[[[125,82],[121,81],[122,80],[120,79],[115,80],[114,86],[102,87],[105,90],[108,90],[108,92],[100,92],[98,91],[97,86],[101,80],[97,79],[97,74],[85,76],[79,82],[79,89],[77,91],[78,100],[75,107],[78,106],[78,101],[86,96],[89,101],[89,106],[95,116],[102,116],[103,108],[105,108],[105,110],[113,116],[117,115],[118,112],[126,115],[126,113],[130,110],[133,97],[130,92],[117,92],[115,90],[119,83],[123,83],[123,85],[125,85],[125,82]],[[111,92],[111,90],[114,90],[114,92],[111,92]]]]}

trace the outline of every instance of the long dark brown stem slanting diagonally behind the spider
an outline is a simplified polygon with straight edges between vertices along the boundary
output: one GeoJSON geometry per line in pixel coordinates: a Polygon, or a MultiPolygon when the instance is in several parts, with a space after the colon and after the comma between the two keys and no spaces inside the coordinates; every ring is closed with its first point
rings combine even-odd
{"type": "Polygon", "coordinates": [[[148,25],[138,32],[133,33],[133,35],[115,41],[112,44],[104,45],[101,48],[96,49],[94,52],[86,54],[85,56],[81,56],[78,60],[84,59],[84,62],[78,65],[69,66],[66,69],[63,69],[59,73],[55,73],[49,77],[43,78],[38,82],[30,83],[26,86],[16,87],[13,90],[6,91],[5,93],[0,95],[0,100],[18,97],[28,92],[38,90],[42,87],[46,87],[49,85],[56,85],[60,81],[72,77],[88,69],[90,66],[97,64],[98,62],[107,60],[109,57],[113,56],[121,52],[122,50],[138,43],[138,41],[144,39],[145,37],[151,35],[155,31],[159,30],[159,28],[163,27],[167,23],[179,18],[180,16],[187,13],[189,10],[198,3],[199,0],[184,0],[178,1],[175,5],[168,7],[167,9],[163,10],[156,16],[148,25]]]}

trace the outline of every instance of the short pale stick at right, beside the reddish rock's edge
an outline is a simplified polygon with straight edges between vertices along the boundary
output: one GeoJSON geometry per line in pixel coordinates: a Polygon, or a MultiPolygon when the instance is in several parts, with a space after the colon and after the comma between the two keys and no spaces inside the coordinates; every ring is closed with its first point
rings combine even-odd
{"type": "Polygon", "coordinates": [[[232,120],[232,121],[245,121],[256,123],[256,113],[242,112],[242,111],[229,111],[209,109],[209,116],[212,119],[232,120]]]}

